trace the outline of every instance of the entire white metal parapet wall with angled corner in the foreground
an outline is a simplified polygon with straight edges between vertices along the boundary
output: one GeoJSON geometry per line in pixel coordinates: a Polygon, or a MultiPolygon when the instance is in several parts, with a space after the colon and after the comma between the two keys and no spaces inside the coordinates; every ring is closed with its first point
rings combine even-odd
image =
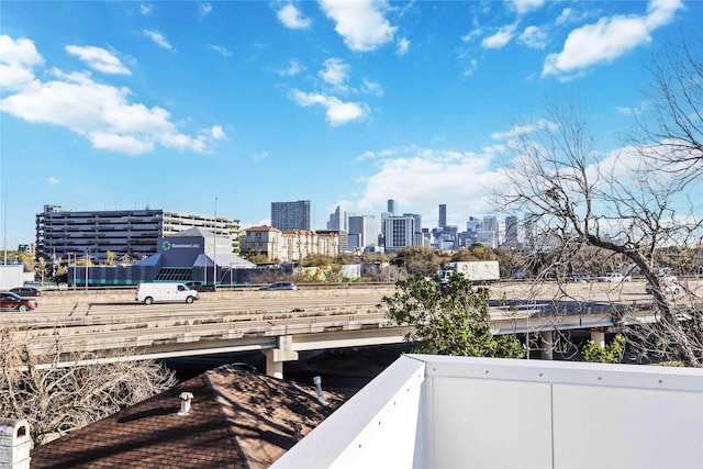
{"type": "Polygon", "coordinates": [[[703,371],[406,355],[275,467],[703,467],[703,371]]]}

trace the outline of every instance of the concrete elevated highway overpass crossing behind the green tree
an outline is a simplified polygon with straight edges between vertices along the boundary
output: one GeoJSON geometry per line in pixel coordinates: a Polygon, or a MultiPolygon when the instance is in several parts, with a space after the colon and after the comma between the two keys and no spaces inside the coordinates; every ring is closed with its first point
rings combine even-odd
{"type": "MultiPolygon", "coordinates": [[[[492,330],[539,334],[547,359],[556,330],[590,330],[603,344],[609,328],[651,321],[651,299],[628,287],[632,295],[622,300],[626,292],[620,291],[618,302],[610,298],[612,287],[603,286],[583,292],[589,300],[574,291],[571,301],[555,305],[545,292],[542,299],[533,294],[531,302],[516,301],[513,308],[504,299],[514,298],[515,291],[493,289],[492,330]]],[[[644,284],[639,289],[644,292],[644,284]]],[[[93,353],[124,349],[126,357],[100,360],[259,350],[266,356],[267,373],[282,377],[283,362],[298,359],[299,351],[403,342],[409,330],[391,324],[380,308],[382,297],[391,292],[216,292],[201,293],[194,304],[148,306],[136,303],[133,291],[52,292],[40,299],[41,312],[2,313],[2,320],[25,328],[37,354],[59,347],[66,365],[72,356],[91,360],[93,353]]]]}

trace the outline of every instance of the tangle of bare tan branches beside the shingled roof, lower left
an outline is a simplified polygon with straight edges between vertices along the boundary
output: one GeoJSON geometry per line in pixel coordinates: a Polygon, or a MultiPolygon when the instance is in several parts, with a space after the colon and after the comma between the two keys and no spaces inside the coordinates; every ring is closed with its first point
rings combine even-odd
{"type": "Polygon", "coordinates": [[[174,372],[154,361],[72,354],[62,344],[37,355],[31,334],[0,326],[0,415],[26,418],[35,445],[80,428],[175,384],[174,372]],[[112,358],[102,362],[98,358],[112,358]]]}

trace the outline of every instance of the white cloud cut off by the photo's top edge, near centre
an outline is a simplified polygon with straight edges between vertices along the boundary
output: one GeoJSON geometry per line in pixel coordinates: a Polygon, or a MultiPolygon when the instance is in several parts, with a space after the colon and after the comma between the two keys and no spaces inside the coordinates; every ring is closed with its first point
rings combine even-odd
{"type": "Polygon", "coordinates": [[[375,51],[393,41],[398,30],[383,16],[383,0],[320,0],[320,5],[352,51],[375,51]]]}

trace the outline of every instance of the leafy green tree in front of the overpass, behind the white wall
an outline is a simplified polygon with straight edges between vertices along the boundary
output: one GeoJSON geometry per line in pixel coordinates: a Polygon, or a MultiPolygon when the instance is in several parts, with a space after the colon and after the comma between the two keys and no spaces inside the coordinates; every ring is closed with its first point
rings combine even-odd
{"type": "Polygon", "coordinates": [[[461,275],[453,275],[446,290],[439,278],[411,277],[397,283],[383,304],[391,321],[410,326],[405,340],[416,353],[467,357],[523,358],[527,349],[514,335],[491,333],[489,290],[475,289],[461,275]]]}

